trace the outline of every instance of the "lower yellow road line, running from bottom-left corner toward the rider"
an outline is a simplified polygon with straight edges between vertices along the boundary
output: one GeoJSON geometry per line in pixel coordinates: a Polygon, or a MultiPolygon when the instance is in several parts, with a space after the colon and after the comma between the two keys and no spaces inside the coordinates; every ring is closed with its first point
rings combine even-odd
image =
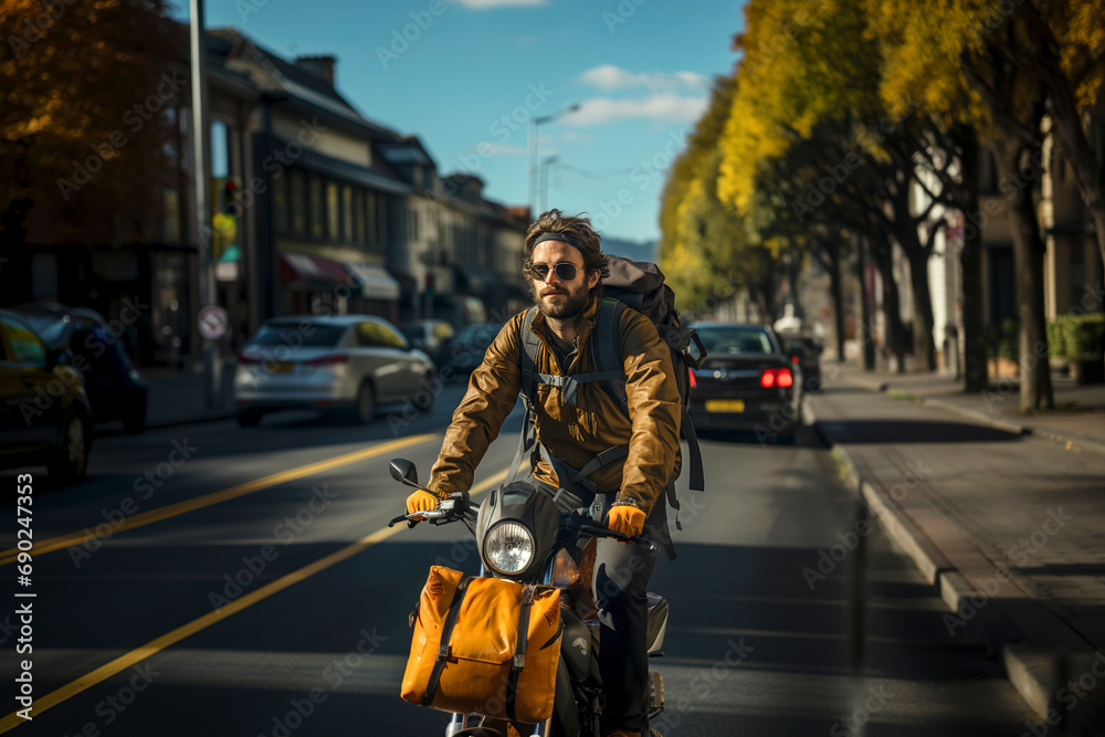
{"type": "MultiPolygon", "coordinates": [[[[472,496],[476,496],[477,494],[486,492],[492,486],[502,483],[504,478],[506,478],[506,471],[501,471],[499,473],[495,474],[494,476],[492,476],[491,478],[488,478],[487,481],[483,482],[474,489],[472,489],[472,496]]],[[[166,647],[177,644],[185,638],[191,634],[196,634],[200,630],[211,627],[215,622],[219,622],[220,620],[230,617],[231,614],[236,614],[246,607],[252,607],[259,601],[263,601],[264,599],[267,599],[272,594],[283,591],[290,586],[298,583],[299,581],[306,579],[307,577],[314,576],[315,573],[323,571],[329,568],[330,566],[334,566],[335,564],[339,564],[343,560],[346,560],[347,558],[351,558],[361,550],[370,548],[377,543],[386,540],[387,538],[391,537],[401,529],[407,529],[406,525],[399,524],[394,527],[385,527],[382,529],[378,529],[371,535],[362,537],[356,543],[348,545],[341,548],[340,550],[332,552],[325,558],[320,558],[319,560],[316,560],[315,562],[308,566],[304,566],[303,568],[292,571],[286,576],[282,576],[272,583],[264,586],[257,589],[256,591],[253,591],[252,593],[248,593],[240,599],[235,599],[225,607],[217,609],[209,614],[204,614],[203,617],[200,617],[197,620],[192,620],[187,624],[178,627],[176,630],[172,630],[167,634],[162,634],[160,638],[157,638],[156,640],[150,640],[145,645],[136,647],[135,650],[131,650],[129,653],[125,655],[119,655],[115,660],[105,663],[104,665],[101,665],[92,673],[87,673],[77,678],[76,681],[73,681],[72,683],[69,683],[62,686],[61,688],[52,691],[45,696],[35,699],[31,704],[31,716],[32,717],[39,716],[46,709],[53,706],[57,706],[65,699],[76,696],[86,688],[91,688],[92,686],[95,686],[98,683],[107,681],[113,675],[116,675],[133,665],[137,665],[147,657],[150,657],[151,655],[161,652],[166,647]]],[[[3,719],[0,719],[0,734],[10,731],[21,724],[24,724],[24,719],[19,716],[18,712],[12,712],[3,719]]]]}

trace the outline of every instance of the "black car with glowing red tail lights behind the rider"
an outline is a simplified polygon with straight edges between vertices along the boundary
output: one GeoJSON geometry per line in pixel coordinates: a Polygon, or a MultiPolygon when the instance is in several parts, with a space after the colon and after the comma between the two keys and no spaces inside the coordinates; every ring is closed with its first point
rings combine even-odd
{"type": "Polygon", "coordinates": [[[695,428],[753,430],[760,439],[792,443],[801,423],[802,375],[775,330],[723,323],[694,327],[706,349],[691,390],[695,428]]]}

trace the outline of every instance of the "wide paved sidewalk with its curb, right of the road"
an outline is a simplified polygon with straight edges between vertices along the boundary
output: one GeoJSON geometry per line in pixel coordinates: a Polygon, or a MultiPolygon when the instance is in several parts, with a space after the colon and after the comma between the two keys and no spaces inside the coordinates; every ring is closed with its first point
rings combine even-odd
{"type": "MultiPolygon", "coordinates": [[[[990,411],[954,389],[844,369],[808,408],[871,516],[940,588],[949,632],[975,628],[1041,720],[1105,734],[1105,457],[1073,441],[1105,448],[1105,412],[1040,422],[1014,413],[1015,394],[990,411]],[[1018,420],[1032,433],[1000,427],[1018,420]],[[1046,436],[1067,427],[1070,444],[1046,436]]],[[[1087,407],[1105,396],[1061,391],[1087,407]]]]}

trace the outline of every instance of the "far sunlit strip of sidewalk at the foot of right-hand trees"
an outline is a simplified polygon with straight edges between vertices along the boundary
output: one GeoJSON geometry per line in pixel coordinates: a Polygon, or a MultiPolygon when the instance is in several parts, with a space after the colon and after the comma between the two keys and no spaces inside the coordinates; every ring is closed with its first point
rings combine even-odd
{"type": "Polygon", "coordinates": [[[1105,385],[1078,387],[1067,377],[1052,373],[1055,410],[1021,414],[1020,388],[1015,380],[999,380],[979,393],[964,393],[962,382],[938,373],[888,373],[852,367],[824,370],[829,383],[849,383],[908,397],[940,407],[979,422],[1014,433],[1033,433],[1082,450],[1105,453],[1105,385]],[[835,376],[833,376],[835,373],[835,376]]]}

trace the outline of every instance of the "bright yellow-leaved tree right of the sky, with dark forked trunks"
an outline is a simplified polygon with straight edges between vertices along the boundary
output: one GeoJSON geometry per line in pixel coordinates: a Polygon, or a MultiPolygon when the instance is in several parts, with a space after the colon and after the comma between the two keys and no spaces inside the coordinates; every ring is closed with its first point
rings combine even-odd
{"type": "MultiPolygon", "coordinates": [[[[723,196],[738,208],[747,208],[757,188],[772,188],[779,178],[769,162],[787,156],[800,141],[807,164],[804,181],[790,202],[798,214],[836,225],[855,223],[855,197],[864,206],[860,230],[872,242],[872,254],[887,289],[888,345],[904,370],[896,309],[897,288],[892,278],[888,239],[893,239],[911,263],[914,295],[914,352],[929,369],[936,368],[933,341],[933,307],[927,263],[941,220],[930,222],[934,209],[950,204],[948,182],[955,162],[953,148],[941,140],[934,122],[911,109],[892,118],[880,95],[881,66],[877,46],[865,43],[867,19],[851,2],[789,0],[748,6],[748,30],[738,39],[745,51],[741,82],[729,118],[723,165],[723,196]],[[828,141],[828,143],[827,143],[828,141]],[[863,176],[860,167],[873,169],[863,176]],[[933,175],[935,182],[927,181],[933,175]],[[863,187],[854,187],[856,180],[863,187]],[[828,182],[828,189],[825,188],[828,182]],[[935,186],[934,186],[935,185],[935,186]],[[929,194],[927,203],[914,207],[912,188],[929,194]],[[848,198],[840,194],[849,192],[848,198]],[[829,200],[830,204],[822,204],[829,200]],[[924,240],[920,227],[927,228],[924,240]]],[[[798,171],[797,167],[790,170],[798,171]]],[[[801,221],[802,218],[799,218],[801,221]]]]}

